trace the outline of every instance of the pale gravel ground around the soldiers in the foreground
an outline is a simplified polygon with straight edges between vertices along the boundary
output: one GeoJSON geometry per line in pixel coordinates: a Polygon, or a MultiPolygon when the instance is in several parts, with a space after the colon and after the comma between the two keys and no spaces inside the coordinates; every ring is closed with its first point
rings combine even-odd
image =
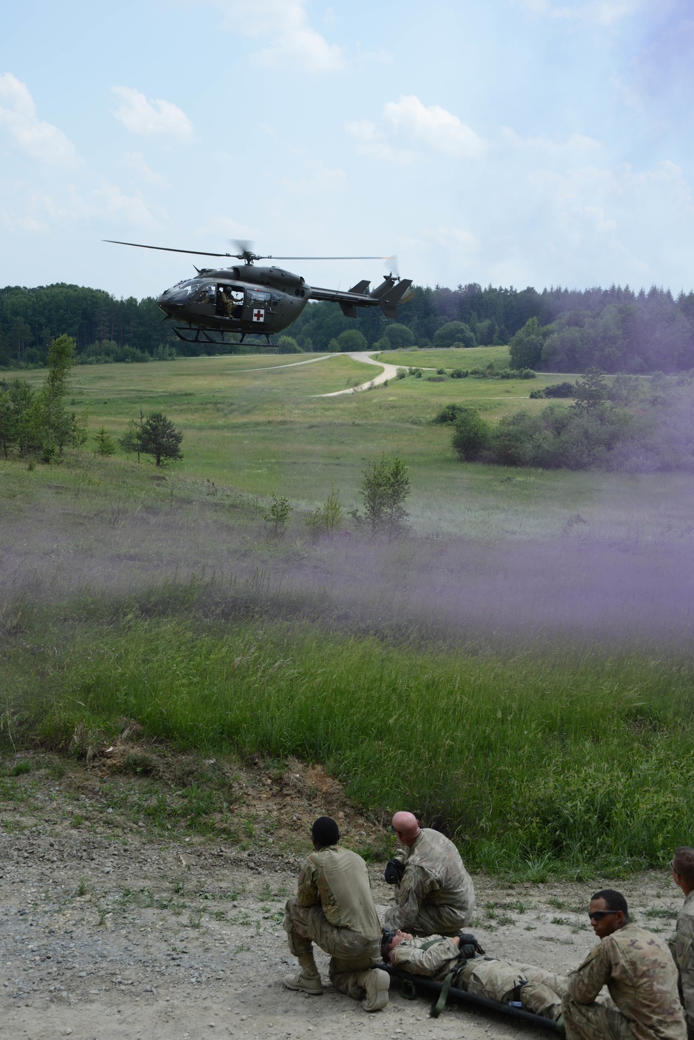
{"type": "MultiPolygon", "coordinates": [[[[322,997],[286,990],[279,980],[295,961],[282,920],[298,855],[194,835],[171,840],[110,820],[71,826],[74,791],[51,781],[44,798],[32,782],[34,808],[50,809],[27,815],[26,804],[0,803],[0,1037],[552,1035],[454,1006],[433,1021],[424,998],[398,992],[369,1015],[329,986],[322,997]]],[[[370,869],[382,908],[382,866],[370,869]]],[[[592,945],[585,908],[594,885],[475,884],[474,931],[488,954],[565,971],[592,945]]],[[[679,900],[666,872],[616,887],[641,924],[671,934],[679,900]]],[[[317,960],[327,980],[327,958],[317,960]]]]}

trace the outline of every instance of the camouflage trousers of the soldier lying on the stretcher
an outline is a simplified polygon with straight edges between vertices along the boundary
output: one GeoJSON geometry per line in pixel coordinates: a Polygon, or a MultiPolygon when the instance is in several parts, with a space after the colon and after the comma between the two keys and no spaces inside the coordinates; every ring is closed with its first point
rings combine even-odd
{"type": "Polygon", "coordinates": [[[486,996],[488,1000],[502,1004],[520,1000],[527,1011],[555,1022],[561,1014],[561,998],[567,985],[564,976],[532,964],[495,961],[486,957],[469,961],[453,984],[469,993],[486,996]]]}

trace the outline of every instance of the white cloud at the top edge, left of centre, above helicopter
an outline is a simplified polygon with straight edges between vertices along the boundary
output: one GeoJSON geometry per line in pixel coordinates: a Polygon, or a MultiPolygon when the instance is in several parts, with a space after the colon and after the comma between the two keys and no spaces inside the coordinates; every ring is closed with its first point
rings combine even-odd
{"type": "Polygon", "coordinates": [[[224,0],[222,27],[265,46],[257,60],[309,72],[333,72],[345,64],[343,48],[328,44],[309,23],[306,0],[224,0]]]}

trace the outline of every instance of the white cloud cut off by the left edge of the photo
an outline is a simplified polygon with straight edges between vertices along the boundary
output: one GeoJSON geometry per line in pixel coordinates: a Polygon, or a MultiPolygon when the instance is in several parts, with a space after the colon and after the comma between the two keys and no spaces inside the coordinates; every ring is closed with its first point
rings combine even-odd
{"type": "Polygon", "coordinates": [[[0,75],[0,125],[15,145],[31,159],[58,166],[77,163],[75,149],[62,130],[36,116],[28,87],[11,73],[0,75]]]}

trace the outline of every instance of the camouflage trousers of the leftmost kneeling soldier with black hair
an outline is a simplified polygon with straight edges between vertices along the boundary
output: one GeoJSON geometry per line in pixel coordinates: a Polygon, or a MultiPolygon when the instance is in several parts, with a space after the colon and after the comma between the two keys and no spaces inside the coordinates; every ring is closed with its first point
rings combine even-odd
{"type": "Polygon", "coordinates": [[[366,990],[356,976],[380,962],[380,936],[368,939],[349,928],[337,928],[322,907],[302,907],[296,898],[287,900],[284,927],[290,953],[305,957],[313,954],[315,942],[330,955],[328,974],[336,989],[355,1000],[364,998],[366,990]]]}

